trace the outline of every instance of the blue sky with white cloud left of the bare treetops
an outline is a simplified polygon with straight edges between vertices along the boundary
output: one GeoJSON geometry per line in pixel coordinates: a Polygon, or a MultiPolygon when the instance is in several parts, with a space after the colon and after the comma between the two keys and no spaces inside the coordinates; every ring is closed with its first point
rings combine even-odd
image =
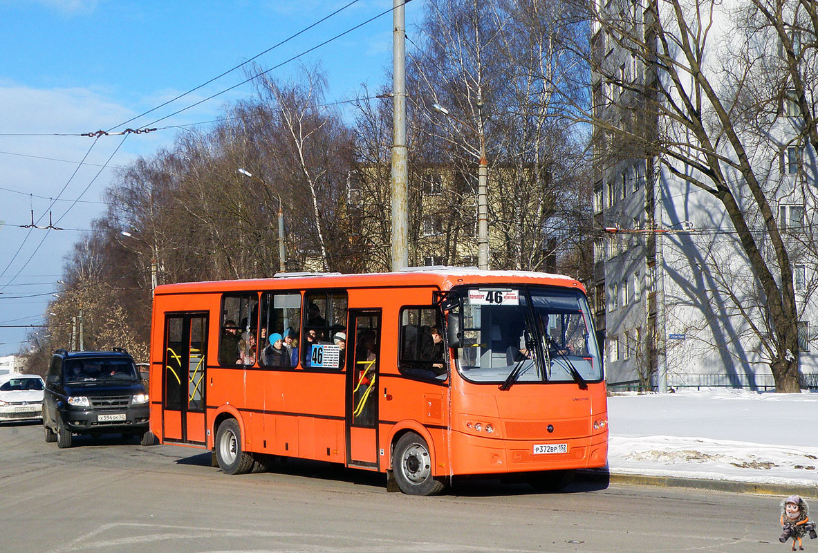
{"type": "MultiPolygon", "coordinates": [[[[0,0],[0,221],[5,223],[0,226],[0,355],[17,353],[29,331],[41,331],[29,325],[42,324],[65,256],[92,219],[105,212],[104,191],[116,169],[171,146],[187,128],[206,128],[227,103],[252,96],[253,84],[163,119],[247,79],[244,70],[236,70],[169,106],[128,119],[336,10],[345,7],[255,61],[264,69],[280,65],[392,5],[392,0],[0,0]],[[96,140],[56,136],[144,125],[162,130],[96,140]],[[24,227],[32,222],[63,230],[24,227]]],[[[410,38],[422,10],[422,2],[407,5],[410,38]]],[[[301,63],[326,70],[328,101],[359,96],[362,83],[370,90],[391,86],[386,75],[392,64],[392,14],[269,75],[292,79],[301,63]]]]}

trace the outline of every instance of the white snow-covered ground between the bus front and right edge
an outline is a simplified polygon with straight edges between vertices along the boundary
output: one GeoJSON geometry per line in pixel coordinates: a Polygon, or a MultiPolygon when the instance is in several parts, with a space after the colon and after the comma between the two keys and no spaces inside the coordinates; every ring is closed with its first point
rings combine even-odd
{"type": "Polygon", "coordinates": [[[608,418],[613,474],[818,484],[818,393],[626,393],[608,418]]]}

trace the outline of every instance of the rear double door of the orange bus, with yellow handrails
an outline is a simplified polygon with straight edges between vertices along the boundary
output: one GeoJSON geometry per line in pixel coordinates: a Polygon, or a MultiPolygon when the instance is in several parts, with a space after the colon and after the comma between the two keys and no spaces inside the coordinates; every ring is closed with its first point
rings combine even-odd
{"type": "Polygon", "coordinates": [[[205,444],[206,313],[165,317],[163,440],[205,444]]]}

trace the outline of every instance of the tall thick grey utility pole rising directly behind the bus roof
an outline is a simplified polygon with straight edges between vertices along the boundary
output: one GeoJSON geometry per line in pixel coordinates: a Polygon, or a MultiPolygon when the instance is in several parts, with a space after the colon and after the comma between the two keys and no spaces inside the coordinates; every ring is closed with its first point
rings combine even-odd
{"type": "Polygon", "coordinates": [[[407,93],[405,0],[393,0],[392,270],[408,265],[407,93]]]}

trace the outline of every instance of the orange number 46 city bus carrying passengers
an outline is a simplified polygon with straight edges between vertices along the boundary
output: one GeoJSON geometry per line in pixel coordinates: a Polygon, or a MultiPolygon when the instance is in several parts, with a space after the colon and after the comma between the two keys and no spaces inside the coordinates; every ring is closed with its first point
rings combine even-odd
{"type": "Polygon", "coordinates": [[[151,430],[227,474],[274,456],[387,473],[415,495],[602,467],[600,346],[582,285],[465,268],[156,287],[151,430]]]}

